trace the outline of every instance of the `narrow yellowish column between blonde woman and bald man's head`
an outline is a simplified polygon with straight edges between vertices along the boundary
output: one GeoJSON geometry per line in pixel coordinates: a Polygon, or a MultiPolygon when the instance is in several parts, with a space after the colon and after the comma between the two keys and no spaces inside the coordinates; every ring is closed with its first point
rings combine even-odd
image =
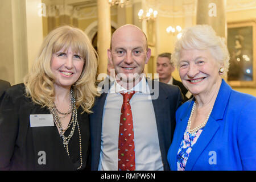
{"type": "Polygon", "coordinates": [[[110,6],[108,1],[97,1],[98,9],[98,74],[107,73],[108,55],[111,41],[110,6]]]}

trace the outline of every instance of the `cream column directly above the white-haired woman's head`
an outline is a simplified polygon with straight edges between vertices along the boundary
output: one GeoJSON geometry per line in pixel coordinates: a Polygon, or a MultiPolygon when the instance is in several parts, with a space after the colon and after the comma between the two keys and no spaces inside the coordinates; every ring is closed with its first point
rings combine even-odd
{"type": "Polygon", "coordinates": [[[209,24],[218,36],[226,38],[226,0],[198,0],[196,24],[209,24]]]}

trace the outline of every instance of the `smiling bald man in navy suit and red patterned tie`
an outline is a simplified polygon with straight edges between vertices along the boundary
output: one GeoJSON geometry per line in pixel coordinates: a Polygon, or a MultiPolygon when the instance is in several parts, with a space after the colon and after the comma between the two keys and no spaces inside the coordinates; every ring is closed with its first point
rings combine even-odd
{"type": "Polygon", "coordinates": [[[108,57],[115,79],[98,85],[102,94],[90,115],[92,170],[170,169],[166,155],[182,96],[177,86],[144,76],[150,56],[138,27],[127,24],[113,33],[108,57]]]}

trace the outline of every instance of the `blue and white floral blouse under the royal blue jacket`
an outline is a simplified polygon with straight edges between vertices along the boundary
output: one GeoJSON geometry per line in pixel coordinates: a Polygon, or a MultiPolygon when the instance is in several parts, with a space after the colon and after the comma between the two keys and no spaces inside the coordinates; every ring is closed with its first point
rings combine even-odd
{"type": "Polygon", "coordinates": [[[196,133],[188,133],[188,127],[184,132],[183,140],[180,143],[177,152],[177,170],[184,171],[187,164],[188,156],[192,150],[193,145],[196,143],[204,128],[201,128],[196,133]]]}

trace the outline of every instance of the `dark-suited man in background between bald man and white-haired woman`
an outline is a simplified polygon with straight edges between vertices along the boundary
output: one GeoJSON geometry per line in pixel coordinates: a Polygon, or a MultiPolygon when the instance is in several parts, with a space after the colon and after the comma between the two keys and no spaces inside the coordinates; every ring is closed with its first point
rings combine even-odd
{"type": "Polygon", "coordinates": [[[189,100],[192,94],[183,86],[182,82],[175,80],[172,77],[172,72],[175,71],[174,64],[171,61],[171,53],[161,53],[156,60],[156,72],[159,74],[159,81],[170,85],[177,85],[181,89],[184,96],[184,101],[189,100]]]}

